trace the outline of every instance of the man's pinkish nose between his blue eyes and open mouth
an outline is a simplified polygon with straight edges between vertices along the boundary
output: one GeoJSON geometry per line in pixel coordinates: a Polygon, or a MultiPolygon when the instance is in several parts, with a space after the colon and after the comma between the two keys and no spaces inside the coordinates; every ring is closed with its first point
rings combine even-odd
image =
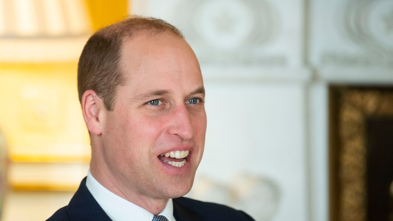
{"type": "Polygon", "coordinates": [[[168,128],[169,134],[174,134],[182,138],[182,140],[189,140],[194,136],[194,125],[191,121],[190,114],[185,105],[179,105],[171,114],[171,123],[168,128]]]}

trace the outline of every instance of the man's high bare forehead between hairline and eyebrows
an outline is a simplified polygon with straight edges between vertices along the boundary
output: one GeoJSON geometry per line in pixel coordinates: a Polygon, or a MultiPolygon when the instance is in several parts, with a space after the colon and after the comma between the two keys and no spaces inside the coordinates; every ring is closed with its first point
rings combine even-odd
{"type": "Polygon", "coordinates": [[[165,89],[165,84],[169,87],[173,82],[179,87],[187,82],[203,86],[193,50],[183,38],[172,33],[140,34],[126,39],[120,65],[126,80],[136,89],[152,89],[154,85],[165,89]]]}

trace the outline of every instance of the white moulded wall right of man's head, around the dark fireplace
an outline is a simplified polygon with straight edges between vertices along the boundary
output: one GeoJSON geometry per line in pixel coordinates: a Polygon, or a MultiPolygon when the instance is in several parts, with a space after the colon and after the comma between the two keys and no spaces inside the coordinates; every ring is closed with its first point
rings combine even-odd
{"type": "Polygon", "coordinates": [[[393,1],[131,2],[200,60],[208,130],[189,196],[257,220],[329,220],[328,88],[393,85],[393,1]]]}

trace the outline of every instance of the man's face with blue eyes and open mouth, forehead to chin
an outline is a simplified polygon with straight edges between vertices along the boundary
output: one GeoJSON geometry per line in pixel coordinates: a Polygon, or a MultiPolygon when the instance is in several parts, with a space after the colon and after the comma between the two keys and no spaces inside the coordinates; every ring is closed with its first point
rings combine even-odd
{"type": "Polygon", "coordinates": [[[127,40],[121,54],[127,80],[116,92],[114,110],[105,112],[102,130],[110,176],[132,194],[183,196],[193,184],[206,132],[195,54],[169,33],[127,40]],[[175,157],[167,156],[171,152],[175,157]]]}

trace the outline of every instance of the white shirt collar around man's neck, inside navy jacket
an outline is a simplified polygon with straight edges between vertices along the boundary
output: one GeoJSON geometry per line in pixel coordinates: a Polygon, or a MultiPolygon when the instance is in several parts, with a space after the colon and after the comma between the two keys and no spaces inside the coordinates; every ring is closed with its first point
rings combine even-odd
{"type": "MultiPolygon", "coordinates": [[[[113,221],[129,221],[141,220],[151,221],[154,215],[142,207],[119,197],[118,195],[110,192],[107,188],[101,185],[90,173],[87,173],[86,187],[93,195],[94,199],[98,202],[104,212],[113,221]]],[[[167,205],[159,214],[167,217],[169,221],[176,221],[173,217],[173,203],[172,199],[168,200],[167,205]]]]}

